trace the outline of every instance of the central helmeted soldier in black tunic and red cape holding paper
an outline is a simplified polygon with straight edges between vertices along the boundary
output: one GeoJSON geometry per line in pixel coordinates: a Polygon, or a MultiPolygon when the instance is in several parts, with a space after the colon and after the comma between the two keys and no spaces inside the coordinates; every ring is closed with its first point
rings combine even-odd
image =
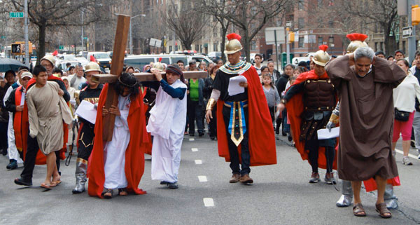
{"type": "Polygon", "coordinates": [[[206,119],[209,123],[213,118],[211,109],[217,102],[218,154],[230,161],[229,182],[251,184],[250,166],[277,163],[274,130],[267,101],[262,101],[265,94],[260,77],[253,65],[240,60],[241,36],[232,33],[227,38],[225,53],[229,62],[216,74],[206,119]],[[234,86],[231,79],[242,81],[234,86]],[[237,89],[237,93],[229,93],[229,86],[237,89]]]}

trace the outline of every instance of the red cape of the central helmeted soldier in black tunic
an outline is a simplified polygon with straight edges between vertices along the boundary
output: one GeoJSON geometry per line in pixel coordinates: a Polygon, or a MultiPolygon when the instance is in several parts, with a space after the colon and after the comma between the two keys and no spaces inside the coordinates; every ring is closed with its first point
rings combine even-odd
{"type": "MultiPolygon", "coordinates": [[[[251,166],[276,164],[276,139],[260,77],[254,67],[242,75],[248,82],[248,128],[246,128],[246,132],[248,132],[251,166]]],[[[222,114],[223,103],[221,100],[217,102],[217,117],[220,118],[217,120],[217,145],[219,156],[229,162],[228,137],[222,114]]],[[[238,146],[238,151],[240,158],[241,145],[238,146]]]]}

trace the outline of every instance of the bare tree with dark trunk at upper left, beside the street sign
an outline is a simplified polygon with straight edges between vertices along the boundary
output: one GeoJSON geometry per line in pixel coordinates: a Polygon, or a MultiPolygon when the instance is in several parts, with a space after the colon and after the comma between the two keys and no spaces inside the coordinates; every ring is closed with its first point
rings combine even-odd
{"type": "MultiPolygon", "coordinates": [[[[23,11],[22,1],[9,1],[16,11],[23,11]]],[[[100,0],[28,0],[29,22],[38,27],[37,63],[45,55],[45,36],[49,27],[88,25],[98,18],[87,17],[86,20],[81,22],[80,19],[76,19],[80,17],[80,10],[85,11],[86,14],[94,15],[93,12],[100,4],[100,0]]]]}

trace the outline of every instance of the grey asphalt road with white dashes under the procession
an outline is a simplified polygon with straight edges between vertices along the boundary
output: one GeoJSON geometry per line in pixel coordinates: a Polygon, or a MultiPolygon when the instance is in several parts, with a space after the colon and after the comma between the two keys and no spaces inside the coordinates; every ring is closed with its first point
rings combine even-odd
{"type": "MultiPolygon", "coordinates": [[[[251,168],[253,185],[230,184],[229,164],[218,157],[216,141],[209,137],[184,139],[180,188],[175,190],[151,180],[146,161],[141,196],[116,196],[111,200],[73,195],[76,161],[62,161],[62,184],[43,191],[46,168],[36,166],[35,186],[13,183],[22,167],[7,171],[8,159],[0,156],[0,224],[419,224],[420,162],[405,166],[397,154],[402,186],[395,187],[400,205],[391,219],[374,211],[373,193],[363,191],[367,217],[354,217],[351,207],[335,206],[340,193],[320,182],[309,184],[311,172],[283,137],[277,141],[277,165],[251,168]],[[201,164],[200,164],[201,163],[201,164]],[[200,177],[199,177],[200,176],[200,177]],[[211,204],[213,203],[213,204],[211,204]]],[[[400,145],[399,145],[400,146],[400,145]]],[[[414,151],[412,154],[416,153],[414,151]]],[[[150,156],[146,156],[150,158],[150,156]]],[[[21,166],[21,165],[20,165],[21,166]]],[[[321,177],[325,170],[321,170],[321,177]]]]}

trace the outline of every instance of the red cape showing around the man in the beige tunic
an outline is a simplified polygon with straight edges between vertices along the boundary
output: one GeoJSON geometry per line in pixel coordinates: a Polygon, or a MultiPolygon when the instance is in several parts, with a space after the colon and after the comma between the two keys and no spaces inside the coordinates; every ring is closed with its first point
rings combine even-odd
{"type": "MultiPolygon", "coordinates": [[[[57,76],[48,76],[48,81],[62,81],[62,79],[60,79],[57,76]]],[[[34,84],[36,83],[35,79],[30,79],[28,81],[27,84],[27,90],[29,90],[29,88],[31,88],[32,86],[34,86],[34,84]]],[[[68,102],[67,102],[68,104],[68,102]]],[[[65,159],[66,158],[66,151],[67,151],[67,141],[69,139],[69,129],[67,127],[67,124],[64,123],[63,121],[63,131],[64,131],[64,143],[63,143],[63,148],[59,151],[59,158],[60,159],[65,159]]],[[[29,134],[29,118],[28,118],[28,105],[27,102],[25,101],[24,107],[23,107],[23,115],[22,115],[22,139],[23,139],[23,160],[25,161],[25,157],[26,157],[26,152],[27,152],[27,145],[28,145],[28,134],[29,134]]],[[[35,160],[35,164],[36,165],[44,165],[47,163],[47,156],[45,156],[42,151],[38,151],[38,154],[36,154],[36,160],[35,160]]]]}

